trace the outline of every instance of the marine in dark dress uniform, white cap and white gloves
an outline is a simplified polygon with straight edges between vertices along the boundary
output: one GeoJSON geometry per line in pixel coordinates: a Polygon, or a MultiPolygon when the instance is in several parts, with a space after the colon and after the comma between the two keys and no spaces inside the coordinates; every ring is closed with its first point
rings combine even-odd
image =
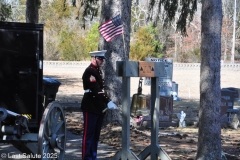
{"type": "Polygon", "coordinates": [[[84,130],[82,140],[82,160],[97,160],[97,147],[106,109],[116,109],[116,105],[104,93],[101,67],[106,50],[90,52],[91,64],[83,73],[85,90],[81,110],[84,130]]]}

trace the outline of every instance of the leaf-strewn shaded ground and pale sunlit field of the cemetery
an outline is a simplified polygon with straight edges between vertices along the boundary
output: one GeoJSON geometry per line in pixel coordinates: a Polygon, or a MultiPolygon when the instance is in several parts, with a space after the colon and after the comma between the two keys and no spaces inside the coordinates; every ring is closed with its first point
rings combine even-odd
{"type": "MultiPolygon", "coordinates": [[[[59,80],[56,100],[62,103],[80,104],[83,94],[81,68],[45,68],[44,76],[59,80]]],[[[196,156],[198,128],[197,122],[199,107],[199,70],[174,70],[173,80],[178,83],[178,93],[181,101],[173,102],[172,121],[177,123],[176,114],[180,111],[186,113],[186,124],[184,128],[176,126],[161,127],[159,132],[159,144],[163,150],[174,160],[193,160],[196,156]]],[[[223,71],[221,74],[221,86],[240,88],[240,71],[223,71]]],[[[137,92],[138,78],[131,79],[131,95],[137,92]]],[[[149,94],[149,86],[143,86],[143,94],[149,94]]],[[[234,102],[234,107],[240,109],[240,101],[234,102]]],[[[82,134],[82,117],[72,119],[72,114],[79,113],[79,109],[71,108],[66,111],[67,128],[75,134],[82,134]]],[[[81,115],[81,114],[80,114],[81,115]]],[[[224,115],[226,116],[226,115],[224,115]]],[[[224,117],[226,118],[226,117],[224,117]]],[[[238,119],[240,114],[238,113],[238,119]]],[[[223,125],[221,129],[222,149],[228,160],[240,160],[240,126],[232,129],[223,125]]],[[[118,125],[104,126],[101,132],[100,143],[108,144],[116,149],[121,148],[122,128],[118,125]]],[[[151,132],[149,128],[131,127],[130,149],[136,155],[143,151],[151,143],[151,132]]],[[[109,159],[114,154],[109,154],[109,159]]]]}

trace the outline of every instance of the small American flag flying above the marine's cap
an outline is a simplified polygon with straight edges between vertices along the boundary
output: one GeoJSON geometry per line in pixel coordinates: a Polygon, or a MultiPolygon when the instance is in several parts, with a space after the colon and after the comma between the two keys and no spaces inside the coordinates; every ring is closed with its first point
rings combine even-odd
{"type": "Polygon", "coordinates": [[[100,33],[107,42],[110,42],[114,37],[123,33],[123,25],[120,15],[106,21],[98,27],[100,33]]]}

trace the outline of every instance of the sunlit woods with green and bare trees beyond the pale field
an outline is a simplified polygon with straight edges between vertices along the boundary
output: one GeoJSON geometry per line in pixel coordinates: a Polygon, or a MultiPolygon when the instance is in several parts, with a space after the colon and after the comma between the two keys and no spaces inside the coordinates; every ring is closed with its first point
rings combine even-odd
{"type": "MultiPolygon", "coordinates": [[[[176,31],[176,24],[163,28],[160,20],[156,28],[147,23],[147,3],[132,1],[130,59],[144,60],[147,56],[173,58],[176,62],[200,62],[201,5],[187,26],[187,36],[176,31]]],[[[238,2],[239,3],[239,2],[238,2]]],[[[86,19],[82,27],[80,2],[71,0],[39,1],[39,23],[44,24],[44,59],[89,60],[89,52],[98,49],[99,16],[86,19]]],[[[99,10],[100,12],[100,10],[99,10]]],[[[1,0],[0,20],[25,22],[26,0],[1,0]],[[3,16],[6,12],[9,16],[3,16]]],[[[176,15],[178,19],[179,15],[176,15]]],[[[234,1],[223,0],[221,59],[231,61],[233,45],[234,1]]],[[[240,4],[236,5],[235,62],[240,60],[240,4]]]]}

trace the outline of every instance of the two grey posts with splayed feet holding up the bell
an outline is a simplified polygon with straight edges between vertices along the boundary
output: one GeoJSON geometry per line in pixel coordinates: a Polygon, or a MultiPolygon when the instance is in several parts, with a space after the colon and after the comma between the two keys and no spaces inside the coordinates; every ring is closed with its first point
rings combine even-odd
{"type": "MultiPolygon", "coordinates": [[[[155,62],[154,62],[155,63],[155,62]]],[[[155,66],[154,66],[155,67],[155,66]]],[[[157,74],[162,74],[162,70],[155,67],[157,74]]],[[[163,68],[163,66],[160,66],[163,68]]],[[[114,160],[143,160],[151,155],[151,160],[171,160],[167,153],[158,144],[159,132],[159,89],[158,76],[151,77],[151,144],[146,147],[139,156],[136,156],[130,149],[130,77],[139,77],[138,62],[117,62],[117,75],[122,76],[122,149],[118,151],[114,160]]]]}

